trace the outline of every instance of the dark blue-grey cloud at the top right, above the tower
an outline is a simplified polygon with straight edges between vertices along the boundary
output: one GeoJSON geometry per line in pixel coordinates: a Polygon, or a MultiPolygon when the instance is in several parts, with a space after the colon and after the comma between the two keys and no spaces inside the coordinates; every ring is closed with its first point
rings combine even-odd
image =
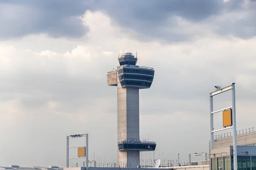
{"type": "MultiPolygon", "coordinates": [[[[102,3],[102,1],[100,2],[102,3]]],[[[193,40],[195,36],[204,36],[204,29],[213,29],[207,27],[199,31],[191,31],[191,25],[180,25],[180,21],[183,19],[191,22],[192,25],[211,24],[214,26],[214,19],[207,20],[208,18],[221,16],[225,12],[246,10],[243,8],[244,3],[241,0],[230,0],[226,3],[224,0],[111,0],[111,3],[107,2],[105,1],[104,7],[100,10],[105,11],[115,23],[124,28],[124,31],[127,31],[127,28],[136,31],[136,39],[157,39],[165,42],[193,40]]],[[[250,22],[250,19],[246,21],[246,23],[248,22],[250,22]]],[[[242,34],[239,34],[244,29],[244,24],[241,24],[240,29],[237,30],[232,29],[232,26],[231,23],[227,24],[227,22],[226,26],[222,27],[220,25],[220,34],[233,34],[244,38],[242,34]],[[225,27],[230,28],[225,29],[225,27]],[[223,29],[225,30],[223,31],[223,29]]],[[[254,32],[251,31],[248,36],[252,37],[254,35],[254,32]]]]}

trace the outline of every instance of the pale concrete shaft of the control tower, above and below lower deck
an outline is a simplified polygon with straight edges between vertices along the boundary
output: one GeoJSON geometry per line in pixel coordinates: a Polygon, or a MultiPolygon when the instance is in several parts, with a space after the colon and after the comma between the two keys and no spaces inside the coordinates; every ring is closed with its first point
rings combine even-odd
{"type": "MultiPolygon", "coordinates": [[[[122,88],[117,83],[118,142],[140,138],[139,88],[122,88]]],[[[140,151],[119,151],[118,167],[140,165],[140,151]]]]}

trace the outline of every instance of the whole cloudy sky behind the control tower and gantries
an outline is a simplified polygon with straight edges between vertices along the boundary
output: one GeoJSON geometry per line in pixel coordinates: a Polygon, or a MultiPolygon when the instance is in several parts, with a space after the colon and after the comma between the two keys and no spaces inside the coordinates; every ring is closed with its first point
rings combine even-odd
{"type": "Polygon", "coordinates": [[[106,73],[123,50],[155,69],[140,91],[140,136],[157,142],[155,158],[209,152],[214,85],[236,82],[237,128],[255,126],[255,9],[254,0],[0,0],[0,165],[65,166],[66,136],[79,133],[89,133],[90,160],[116,161],[117,89],[106,73]]]}

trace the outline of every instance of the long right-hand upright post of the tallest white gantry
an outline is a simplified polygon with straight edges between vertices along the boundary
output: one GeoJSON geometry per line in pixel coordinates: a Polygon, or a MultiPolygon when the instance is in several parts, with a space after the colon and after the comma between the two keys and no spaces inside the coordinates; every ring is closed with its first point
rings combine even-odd
{"type": "Polygon", "coordinates": [[[234,170],[237,170],[237,150],[236,150],[236,88],[232,83],[232,119],[233,119],[233,162],[234,170]]]}

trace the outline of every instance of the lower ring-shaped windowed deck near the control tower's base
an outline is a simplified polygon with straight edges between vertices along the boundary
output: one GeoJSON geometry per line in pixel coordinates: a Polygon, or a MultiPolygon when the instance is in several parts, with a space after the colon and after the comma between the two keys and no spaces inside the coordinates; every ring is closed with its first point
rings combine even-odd
{"type": "Polygon", "coordinates": [[[128,139],[122,142],[118,142],[119,151],[154,151],[156,146],[156,142],[137,141],[136,139],[128,139]]]}

